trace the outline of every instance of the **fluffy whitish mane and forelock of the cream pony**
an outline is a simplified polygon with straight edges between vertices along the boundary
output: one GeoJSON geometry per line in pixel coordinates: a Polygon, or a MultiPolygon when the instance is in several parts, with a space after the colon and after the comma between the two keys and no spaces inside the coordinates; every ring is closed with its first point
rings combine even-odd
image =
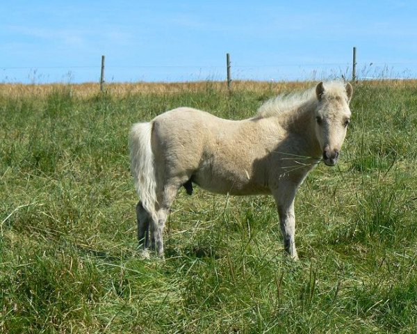
{"type": "MultiPolygon", "coordinates": [[[[342,81],[329,81],[323,84],[328,97],[346,97],[345,84],[342,81]]],[[[278,116],[286,111],[299,109],[303,104],[316,104],[316,87],[295,93],[282,93],[277,97],[263,103],[257,113],[256,118],[268,118],[278,116]]]]}

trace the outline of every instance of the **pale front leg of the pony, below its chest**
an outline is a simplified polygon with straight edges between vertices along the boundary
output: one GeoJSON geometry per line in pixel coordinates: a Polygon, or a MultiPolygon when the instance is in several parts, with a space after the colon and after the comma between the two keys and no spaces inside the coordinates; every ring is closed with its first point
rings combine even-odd
{"type": "Polygon", "coordinates": [[[281,184],[279,191],[277,189],[273,192],[277,202],[281,232],[284,237],[284,249],[293,260],[298,260],[297,249],[295,248],[294,198],[296,192],[297,185],[293,182],[281,184]]]}

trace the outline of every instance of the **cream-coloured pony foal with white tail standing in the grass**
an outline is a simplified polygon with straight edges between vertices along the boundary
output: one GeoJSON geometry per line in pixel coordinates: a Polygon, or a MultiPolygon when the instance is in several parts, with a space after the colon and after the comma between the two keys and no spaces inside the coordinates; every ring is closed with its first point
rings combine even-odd
{"type": "Polygon", "coordinates": [[[133,125],[131,171],[140,196],[138,239],[145,253],[151,246],[163,257],[163,228],[175,195],[181,186],[191,194],[197,184],[214,193],[272,194],[284,248],[297,260],[295,193],[320,161],[336,164],[352,92],[349,83],[320,82],[265,102],[247,120],[181,107],[133,125]]]}

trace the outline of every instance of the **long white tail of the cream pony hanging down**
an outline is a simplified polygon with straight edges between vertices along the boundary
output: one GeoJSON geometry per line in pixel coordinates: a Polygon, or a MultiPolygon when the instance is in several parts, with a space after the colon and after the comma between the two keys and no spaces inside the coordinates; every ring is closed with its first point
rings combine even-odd
{"type": "Polygon", "coordinates": [[[152,122],[136,123],[129,134],[131,173],[142,206],[157,221],[156,177],[152,152],[152,122]]]}

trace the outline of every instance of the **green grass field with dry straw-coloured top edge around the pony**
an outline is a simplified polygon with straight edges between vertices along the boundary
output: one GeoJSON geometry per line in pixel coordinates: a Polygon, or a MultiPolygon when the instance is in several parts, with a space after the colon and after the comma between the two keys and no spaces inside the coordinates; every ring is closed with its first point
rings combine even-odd
{"type": "Polygon", "coordinates": [[[1,333],[417,332],[416,81],[354,85],[338,166],[297,194],[299,262],[272,198],[198,188],[174,202],[165,261],[142,260],[126,143],[177,106],[248,118],[284,84],[76,89],[0,87],[1,333]]]}

